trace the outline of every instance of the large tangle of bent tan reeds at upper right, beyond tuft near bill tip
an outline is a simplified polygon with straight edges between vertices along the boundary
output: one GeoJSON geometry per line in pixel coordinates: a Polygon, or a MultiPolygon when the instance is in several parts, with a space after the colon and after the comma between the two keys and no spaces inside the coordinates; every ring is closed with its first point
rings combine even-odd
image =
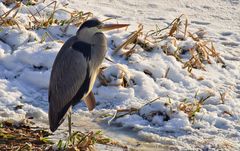
{"type": "Polygon", "coordinates": [[[146,37],[153,39],[155,43],[171,39],[169,43],[161,46],[163,52],[174,56],[179,62],[183,63],[183,68],[186,68],[191,73],[193,68],[206,71],[205,64],[212,63],[210,57],[214,58],[217,63],[225,65],[213,43],[203,38],[204,34],[206,32],[202,29],[195,33],[188,31],[187,16],[182,14],[174,19],[168,27],[149,31],[146,37]],[[185,20],[182,19],[183,17],[185,20]],[[195,42],[195,45],[192,48],[184,50],[177,43],[186,40],[186,38],[191,38],[195,42]],[[176,47],[174,52],[170,50],[171,47],[169,47],[169,44],[176,47]],[[190,58],[187,61],[183,61],[185,53],[190,54],[190,58]]]}

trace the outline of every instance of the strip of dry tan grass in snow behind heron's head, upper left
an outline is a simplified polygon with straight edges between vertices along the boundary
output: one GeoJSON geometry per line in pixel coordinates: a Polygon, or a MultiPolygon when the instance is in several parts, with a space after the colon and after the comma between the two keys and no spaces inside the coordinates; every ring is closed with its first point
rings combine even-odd
{"type": "MultiPolygon", "coordinates": [[[[74,25],[74,26],[80,26],[84,21],[92,17],[91,12],[83,12],[83,11],[68,11],[65,10],[64,8],[57,8],[57,1],[53,1],[49,4],[46,4],[45,7],[41,8],[40,10],[37,9],[34,5],[36,5],[37,1],[17,1],[17,0],[5,0],[3,2],[5,5],[15,5],[12,9],[10,9],[7,12],[2,11],[2,15],[0,16],[0,25],[9,27],[9,26],[14,26],[16,25],[19,29],[21,27],[24,27],[27,30],[34,30],[34,29],[39,29],[43,28],[46,29],[49,26],[52,25],[58,25],[62,26],[61,28],[63,33],[66,33],[69,25],[74,25]],[[22,7],[23,5],[25,6],[32,6],[35,9],[35,13],[32,12],[32,9],[29,9],[28,7],[22,7]],[[47,8],[52,8],[52,12],[46,13],[47,8]],[[21,12],[22,10],[27,11],[30,15],[29,20],[27,21],[28,24],[21,24],[18,18],[18,13],[21,12]],[[67,14],[69,14],[70,18],[66,20],[58,20],[55,18],[55,13],[57,11],[63,11],[67,14]],[[21,24],[21,26],[20,26],[21,24]]],[[[45,3],[44,1],[42,3],[45,3]]]]}

